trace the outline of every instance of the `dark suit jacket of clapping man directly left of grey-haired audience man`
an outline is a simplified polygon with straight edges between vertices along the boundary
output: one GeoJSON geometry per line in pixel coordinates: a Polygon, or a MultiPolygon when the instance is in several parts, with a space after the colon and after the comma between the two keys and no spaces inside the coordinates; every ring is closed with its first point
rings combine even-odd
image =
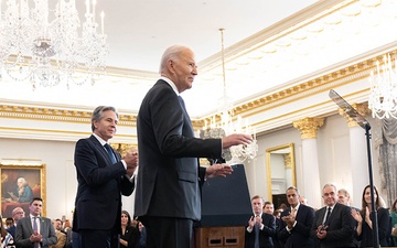
{"type": "MultiPolygon", "coordinates": [[[[280,218],[290,215],[290,213],[291,208],[287,208],[281,213],[280,218]]],[[[314,247],[313,239],[310,237],[310,229],[314,222],[314,209],[310,206],[300,204],[296,215],[296,220],[297,224],[290,231],[288,231],[286,228],[287,223],[282,222],[278,231],[280,241],[285,244],[286,248],[314,247]]]]}

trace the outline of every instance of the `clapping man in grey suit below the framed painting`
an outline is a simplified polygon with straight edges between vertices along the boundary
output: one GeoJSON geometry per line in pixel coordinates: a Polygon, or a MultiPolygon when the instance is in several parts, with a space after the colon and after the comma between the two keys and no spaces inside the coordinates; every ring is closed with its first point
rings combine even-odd
{"type": "Polygon", "coordinates": [[[15,246],[18,248],[49,248],[56,244],[55,229],[51,219],[41,216],[43,200],[34,197],[29,205],[29,216],[18,220],[15,246]]]}

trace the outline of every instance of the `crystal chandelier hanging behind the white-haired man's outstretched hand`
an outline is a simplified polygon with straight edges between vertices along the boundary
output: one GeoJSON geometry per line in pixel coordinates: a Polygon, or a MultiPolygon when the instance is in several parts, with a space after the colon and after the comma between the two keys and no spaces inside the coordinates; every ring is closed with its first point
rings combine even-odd
{"type": "Polygon", "coordinates": [[[222,137],[232,134],[232,133],[246,133],[253,136],[253,142],[248,145],[234,145],[229,149],[224,149],[222,152],[222,158],[230,164],[243,163],[246,160],[251,160],[256,158],[258,151],[258,144],[256,140],[256,131],[248,121],[243,123],[240,116],[237,118],[234,117],[232,98],[227,96],[226,87],[226,73],[225,73],[225,51],[224,51],[224,29],[221,31],[221,52],[222,52],[222,72],[223,72],[223,96],[218,99],[218,116],[219,121],[216,121],[215,116],[212,118],[210,126],[205,123],[205,127],[200,131],[200,137],[203,139],[215,138],[219,139],[222,137]]]}

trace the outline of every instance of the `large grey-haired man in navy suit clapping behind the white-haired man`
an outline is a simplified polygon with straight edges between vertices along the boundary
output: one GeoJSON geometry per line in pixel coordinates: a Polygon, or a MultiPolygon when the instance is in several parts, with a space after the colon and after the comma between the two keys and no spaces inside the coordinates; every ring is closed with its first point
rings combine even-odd
{"type": "Polygon", "coordinates": [[[114,107],[99,106],[92,116],[93,134],[76,143],[77,195],[73,230],[79,233],[82,248],[119,246],[121,195],[135,188],[133,172],[138,153],[126,157],[108,141],[117,131],[118,114],[114,107]]]}

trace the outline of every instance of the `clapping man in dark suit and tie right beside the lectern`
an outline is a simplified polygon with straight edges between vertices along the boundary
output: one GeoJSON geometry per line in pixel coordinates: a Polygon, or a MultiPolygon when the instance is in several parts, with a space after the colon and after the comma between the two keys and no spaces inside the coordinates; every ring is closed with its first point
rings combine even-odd
{"type": "Polygon", "coordinates": [[[264,213],[264,198],[256,195],[251,198],[254,216],[248,219],[245,235],[245,248],[273,248],[272,236],[276,235],[276,218],[264,213]]]}

